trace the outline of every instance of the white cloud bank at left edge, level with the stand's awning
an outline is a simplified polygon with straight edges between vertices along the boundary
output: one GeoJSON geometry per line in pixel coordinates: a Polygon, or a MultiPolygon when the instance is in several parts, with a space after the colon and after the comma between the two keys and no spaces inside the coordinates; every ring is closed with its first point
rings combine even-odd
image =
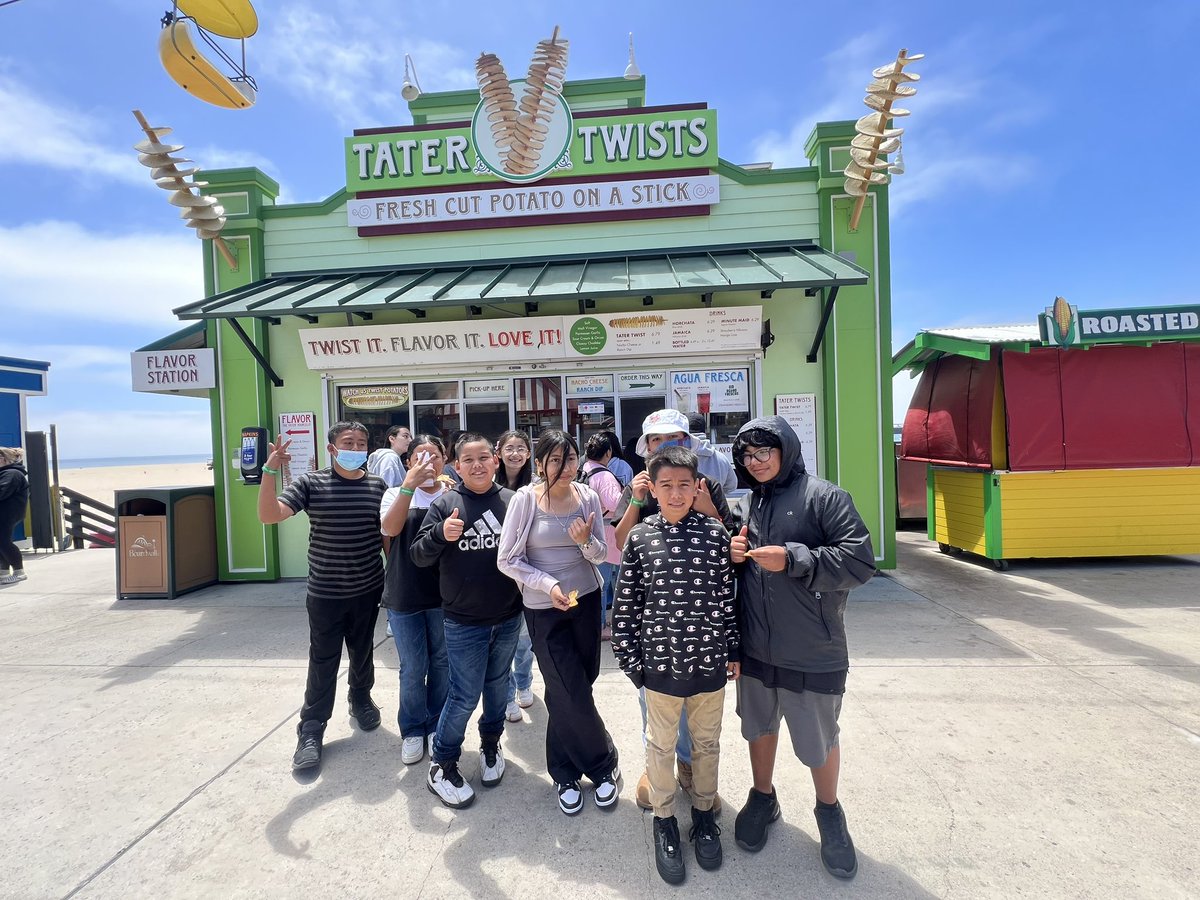
{"type": "Polygon", "coordinates": [[[60,320],[173,331],[179,322],[170,311],[204,296],[202,245],[188,230],[110,235],[53,221],[0,227],[0,308],[16,317],[53,305],[60,320]]]}

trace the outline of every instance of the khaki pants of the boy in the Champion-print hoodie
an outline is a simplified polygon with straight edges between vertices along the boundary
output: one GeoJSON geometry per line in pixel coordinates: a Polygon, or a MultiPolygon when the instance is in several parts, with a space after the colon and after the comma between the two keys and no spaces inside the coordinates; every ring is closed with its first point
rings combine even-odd
{"type": "Polygon", "coordinates": [[[725,688],[691,697],[646,691],[646,774],[650,782],[654,815],[674,815],[674,748],[679,732],[679,713],[688,709],[691,736],[692,805],[709,810],[716,799],[716,767],[721,758],[721,718],[725,714],[725,688]]]}

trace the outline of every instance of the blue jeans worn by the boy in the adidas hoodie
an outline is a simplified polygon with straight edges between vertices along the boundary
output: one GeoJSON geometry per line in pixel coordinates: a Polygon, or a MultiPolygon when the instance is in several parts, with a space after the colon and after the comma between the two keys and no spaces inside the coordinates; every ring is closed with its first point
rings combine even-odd
{"type": "Polygon", "coordinates": [[[457,762],[467,737],[467,721],[484,698],[479,718],[482,739],[504,733],[509,671],[521,634],[520,613],[499,625],[463,625],[445,619],[446,658],[450,662],[450,690],[433,738],[437,762],[457,762]]]}

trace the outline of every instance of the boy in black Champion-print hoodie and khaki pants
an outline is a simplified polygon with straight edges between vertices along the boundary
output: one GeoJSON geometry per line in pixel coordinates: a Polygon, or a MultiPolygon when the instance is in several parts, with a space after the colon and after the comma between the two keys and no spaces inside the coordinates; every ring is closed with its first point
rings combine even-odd
{"type": "Polygon", "coordinates": [[[721,839],[713,803],[725,682],[739,674],[728,533],[692,509],[696,467],[696,454],[683,446],[650,456],[647,473],[660,511],[630,532],[613,604],[613,653],[634,684],[646,688],[654,857],[659,875],[672,884],[684,878],[674,817],[679,719],[686,708],[696,862],[716,869],[721,839]]]}

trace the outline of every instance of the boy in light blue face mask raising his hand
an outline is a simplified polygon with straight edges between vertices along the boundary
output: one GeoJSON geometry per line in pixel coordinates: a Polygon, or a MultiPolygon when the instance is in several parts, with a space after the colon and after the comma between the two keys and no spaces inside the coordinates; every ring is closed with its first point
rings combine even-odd
{"type": "Polygon", "coordinates": [[[276,440],[268,444],[270,454],[258,488],[258,518],[263,524],[276,524],[296,512],[308,514],[308,680],[292,768],[316,769],[320,766],[325,724],[334,714],[343,643],[350,661],[350,718],[362,731],[379,727],[379,707],[371,700],[371,688],[374,628],[383,594],[379,504],[388,485],[364,470],[366,427],[336,422],[329,430],[329,468],[305,472],[276,496],[282,467],[292,460],[292,442],[282,434],[276,440]]]}

